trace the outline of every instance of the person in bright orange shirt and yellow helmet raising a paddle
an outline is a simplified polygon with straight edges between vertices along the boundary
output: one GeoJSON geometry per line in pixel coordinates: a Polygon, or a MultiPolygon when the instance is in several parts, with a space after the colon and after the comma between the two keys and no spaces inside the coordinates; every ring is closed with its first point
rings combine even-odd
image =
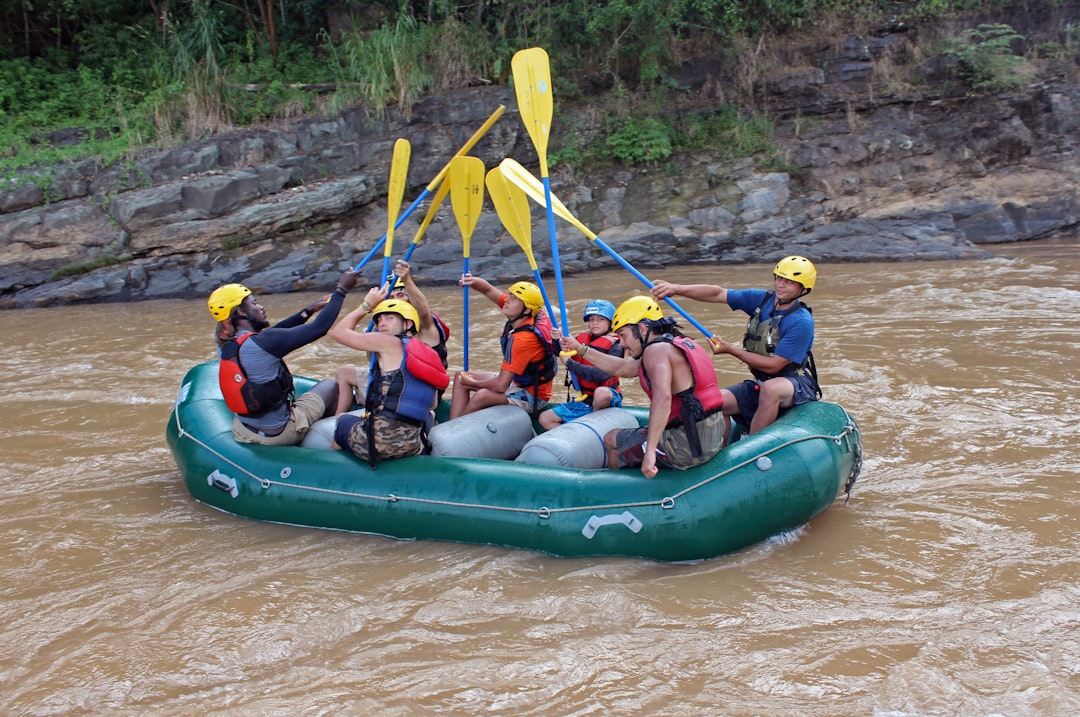
{"type": "Polygon", "coordinates": [[[499,307],[507,317],[502,329],[502,365],[499,373],[458,371],[454,377],[450,418],[488,406],[512,404],[535,416],[551,398],[555,353],[551,346],[551,319],[542,311],[543,294],[530,282],[517,282],[507,293],[472,274],[459,282],[499,307]]]}

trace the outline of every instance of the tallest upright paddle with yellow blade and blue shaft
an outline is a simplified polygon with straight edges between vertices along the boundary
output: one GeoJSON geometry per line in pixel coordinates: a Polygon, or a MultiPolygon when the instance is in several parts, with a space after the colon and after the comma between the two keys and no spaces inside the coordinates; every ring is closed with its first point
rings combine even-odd
{"type": "MultiPolygon", "coordinates": [[[[514,53],[510,60],[514,76],[514,92],[517,95],[517,109],[522,114],[525,128],[536,147],[540,159],[540,177],[543,181],[544,197],[548,201],[543,206],[548,212],[548,238],[551,241],[551,263],[555,272],[555,290],[558,294],[559,317],[563,334],[568,335],[570,327],[566,320],[566,298],[563,295],[563,266],[558,257],[558,242],[555,239],[555,214],[551,208],[551,179],[548,176],[548,136],[551,133],[551,117],[554,111],[554,100],[551,92],[551,66],[548,53],[543,48],[529,48],[514,53]]],[[[541,286],[543,286],[541,284],[541,286]]],[[[551,308],[548,308],[549,313],[551,308]]]]}

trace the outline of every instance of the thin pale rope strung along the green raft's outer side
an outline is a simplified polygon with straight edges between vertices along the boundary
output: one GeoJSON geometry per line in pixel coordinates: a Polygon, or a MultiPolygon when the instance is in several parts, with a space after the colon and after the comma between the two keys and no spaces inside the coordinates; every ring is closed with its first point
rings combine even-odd
{"type": "MultiPolygon", "coordinates": [[[[556,513],[612,511],[612,510],[620,510],[620,509],[627,509],[627,508],[651,508],[651,506],[658,506],[658,505],[661,509],[663,509],[663,510],[672,510],[672,509],[675,508],[675,501],[676,500],[678,500],[680,498],[684,498],[685,496],[688,496],[689,493],[691,493],[691,492],[693,492],[696,490],[699,490],[699,489],[701,489],[704,486],[707,486],[710,483],[713,483],[715,481],[719,481],[720,478],[723,478],[724,476],[728,475],[729,473],[738,471],[739,469],[744,468],[746,465],[750,465],[752,463],[756,463],[758,461],[758,459],[760,459],[760,458],[762,458],[765,456],[769,456],[770,454],[774,454],[778,450],[782,450],[784,448],[787,448],[788,446],[794,446],[795,444],[802,443],[805,441],[832,441],[833,443],[835,443],[838,446],[841,445],[841,444],[845,445],[847,447],[847,449],[848,449],[848,452],[852,452],[853,451],[855,454],[855,464],[852,468],[851,475],[848,476],[847,483],[843,486],[843,491],[848,496],[848,498],[845,500],[845,502],[847,502],[847,500],[851,498],[851,487],[854,485],[855,478],[859,477],[859,472],[860,472],[860,470],[862,468],[862,448],[861,448],[861,442],[858,439],[859,429],[855,428],[855,423],[854,423],[854,421],[851,420],[851,416],[849,414],[847,414],[847,411],[845,411],[845,416],[848,417],[848,423],[847,423],[847,425],[845,425],[843,431],[841,431],[838,435],[813,434],[813,435],[806,435],[806,436],[802,436],[802,437],[799,437],[799,438],[793,438],[791,441],[786,441],[786,442],[780,444],[779,446],[774,446],[772,448],[769,448],[768,450],[762,451],[762,452],[758,454],[757,456],[754,456],[753,458],[748,458],[748,459],[742,461],[741,463],[737,463],[735,465],[732,465],[732,466],[728,468],[727,470],[721,471],[720,473],[717,473],[716,475],[707,477],[707,478],[705,478],[703,481],[699,481],[698,483],[696,483],[696,484],[693,484],[691,486],[687,486],[683,490],[679,490],[678,492],[676,492],[674,495],[671,495],[671,496],[667,496],[665,498],[661,498],[660,500],[635,501],[635,502],[632,502],[632,503],[603,503],[603,504],[596,504],[596,505],[573,505],[573,506],[569,506],[569,508],[548,508],[548,506],[543,506],[543,508],[517,508],[517,506],[510,506],[510,505],[488,505],[486,503],[463,503],[463,502],[460,502],[460,501],[434,500],[434,499],[431,499],[431,498],[414,498],[414,497],[409,497],[409,496],[397,496],[395,493],[387,493],[384,496],[376,496],[376,495],[373,495],[373,493],[354,492],[354,491],[351,491],[351,490],[335,490],[335,489],[332,489],[332,488],[318,488],[318,487],[314,487],[314,486],[300,486],[300,485],[296,485],[295,483],[288,483],[287,481],[284,481],[284,479],[283,481],[275,481],[273,478],[264,478],[264,477],[260,477],[260,476],[252,473],[247,469],[245,469],[243,465],[241,465],[241,464],[237,463],[235,461],[231,460],[230,458],[228,458],[227,456],[225,456],[220,451],[215,450],[212,446],[210,446],[204,441],[200,441],[193,434],[188,433],[186,430],[184,430],[184,425],[180,423],[180,415],[179,415],[178,409],[177,409],[178,408],[178,404],[179,404],[179,402],[177,402],[177,404],[173,406],[173,417],[176,420],[176,429],[177,429],[177,434],[179,435],[179,437],[187,438],[188,441],[191,441],[191,442],[198,444],[199,446],[202,446],[202,448],[204,448],[205,450],[210,451],[211,454],[213,454],[217,458],[221,459],[222,461],[225,461],[229,465],[232,465],[233,468],[235,468],[240,473],[243,473],[244,475],[248,476],[249,478],[252,478],[253,481],[255,481],[256,483],[258,483],[262,487],[264,490],[269,490],[273,486],[281,486],[281,487],[285,487],[285,488],[293,488],[294,490],[307,490],[309,492],[328,493],[328,495],[333,495],[333,496],[346,496],[348,498],[363,498],[363,499],[367,499],[367,500],[384,501],[384,502],[388,502],[388,503],[409,502],[409,503],[420,503],[420,504],[426,504],[426,505],[447,505],[447,506],[450,506],[450,508],[471,508],[471,509],[486,510],[486,511],[502,511],[502,512],[507,512],[507,513],[527,513],[527,514],[534,514],[534,515],[536,515],[539,518],[550,518],[552,515],[554,515],[556,513]]],[[[292,475],[292,473],[293,473],[292,469],[289,469],[288,466],[285,466],[285,468],[283,468],[281,470],[280,475],[281,475],[282,478],[287,478],[289,475],[292,475]]]]}

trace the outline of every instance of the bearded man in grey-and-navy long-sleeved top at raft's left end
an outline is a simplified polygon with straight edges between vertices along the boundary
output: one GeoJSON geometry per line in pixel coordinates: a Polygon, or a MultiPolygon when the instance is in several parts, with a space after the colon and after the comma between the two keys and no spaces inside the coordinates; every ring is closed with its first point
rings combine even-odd
{"type": "Polygon", "coordinates": [[[210,313],[218,322],[218,381],[226,404],[235,414],[232,436],[239,443],[295,446],[312,423],[333,414],[337,382],[324,379],[296,396],[284,359],[326,335],[355,285],[356,274],[347,271],[327,298],[273,326],[267,321],[266,309],[243,284],[226,284],[210,295],[210,313]],[[315,314],[315,320],[307,323],[315,314]]]}

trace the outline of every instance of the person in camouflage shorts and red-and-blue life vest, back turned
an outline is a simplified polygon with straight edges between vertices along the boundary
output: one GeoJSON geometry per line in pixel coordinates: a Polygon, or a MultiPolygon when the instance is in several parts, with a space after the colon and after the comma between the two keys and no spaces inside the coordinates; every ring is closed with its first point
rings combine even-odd
{"type": "Polygon", "coordinates": [[[348,448],[374,468],[379,460],[424,452],[432,409],[449,376],[433,348],[418,340],[420,324],[416,307],[401,299],[378,301],[382,288],[367,293],[363,303],[345,316],[330,338],[338,343],[374,354],[366,393],[367,416],[338,416],[334,447],[348,448]],[[357,332],[368,313],[376,330],[357,332]]]}

